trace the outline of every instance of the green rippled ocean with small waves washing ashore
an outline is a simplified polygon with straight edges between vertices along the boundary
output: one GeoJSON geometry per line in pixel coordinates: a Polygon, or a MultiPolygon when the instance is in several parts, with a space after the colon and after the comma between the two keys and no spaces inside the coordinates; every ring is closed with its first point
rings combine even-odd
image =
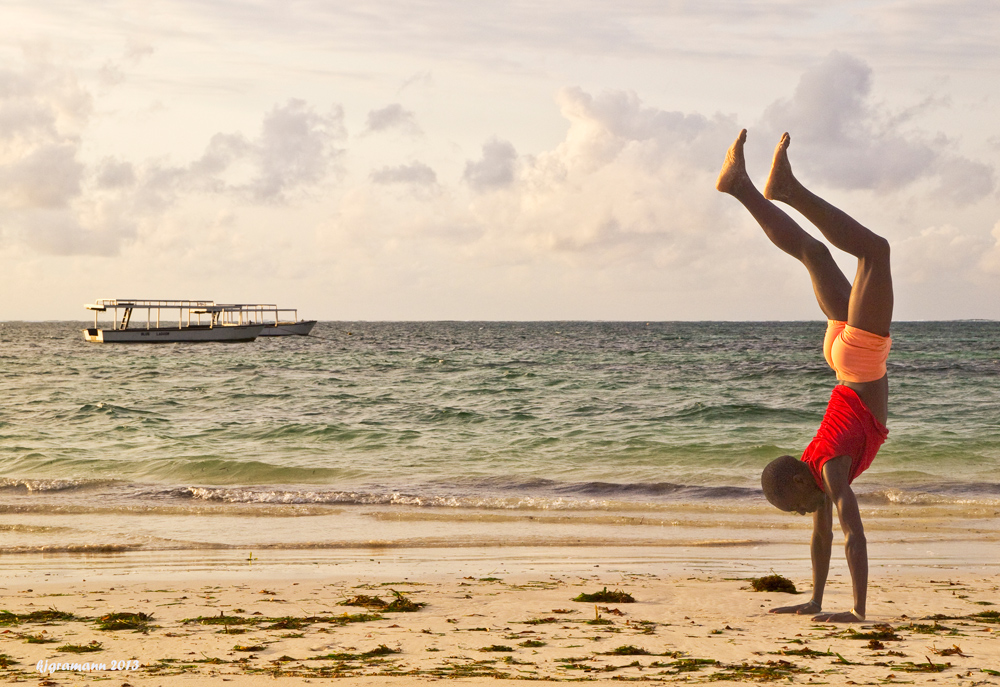
{"type": "MultiPolygon", "coordinates": [[[[835,383],[821,321],[322,322],[161,346],[84,326],[0,323],[0,553],[769,541],[744,531],[788,517],[760,470],[801,454],[835,383]]],[[[1000,323],[892,334],[863,508],[996,530],[1000,323]]]]}

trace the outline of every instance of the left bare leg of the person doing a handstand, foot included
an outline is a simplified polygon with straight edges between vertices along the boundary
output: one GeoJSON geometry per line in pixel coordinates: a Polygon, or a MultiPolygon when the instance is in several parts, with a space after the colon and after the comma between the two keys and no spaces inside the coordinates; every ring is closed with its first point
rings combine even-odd
{"type": "Polygon", "coordinates": [[[745,142],[746,129],[740,132],[726,153],[726,161],[715,187],[743,203],[771,243],[806,266],[823,314],[831,320],[846,321],[851,299],[850,282],[822,242],[807,234],[795,220],[756,189],[746,172],[743,158],[745,142]]]}

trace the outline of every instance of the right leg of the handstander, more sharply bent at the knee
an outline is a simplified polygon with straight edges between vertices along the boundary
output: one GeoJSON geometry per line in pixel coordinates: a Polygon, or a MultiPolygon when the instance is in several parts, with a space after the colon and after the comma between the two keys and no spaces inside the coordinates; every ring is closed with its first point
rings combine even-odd
{"type": "Polygon", "coordinates": [[[889,242],[799,183],[788,161],[790,142],[788,134],[784,134],[774,151],[774,164],[764,195],[791,205],[815,224],[830,243],[858,259],[847,323],[888,336],[893,305],[889,242]]]}

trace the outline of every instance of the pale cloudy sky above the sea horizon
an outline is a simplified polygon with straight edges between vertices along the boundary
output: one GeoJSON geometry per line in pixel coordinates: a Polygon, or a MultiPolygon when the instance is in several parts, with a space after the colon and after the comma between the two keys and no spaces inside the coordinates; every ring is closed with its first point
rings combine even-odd
{"type": "Polygon", "coordinates": [[[5,0],[0,320],[821,319],[714,189],[743,127],[756,183],[788,131],[890,241],[896,319],[1000,319],[997,36],[994,0],[5,0]]]}

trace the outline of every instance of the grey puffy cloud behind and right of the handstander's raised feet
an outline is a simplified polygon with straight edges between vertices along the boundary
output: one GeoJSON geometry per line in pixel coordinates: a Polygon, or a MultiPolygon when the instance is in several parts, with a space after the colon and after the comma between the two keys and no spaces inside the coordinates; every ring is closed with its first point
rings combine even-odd
{"type": "Polygon", "coordinates": [[[875,101],[872,82],[865,62],[834,52],[767,109],[764,124],[772,135],[792,132],[798,167],[835,188],[889,192],[928,180],[959,204],[992,192],[992,167],[957,155],[943,135],[909,129],[907,113],[875,101]]]}

